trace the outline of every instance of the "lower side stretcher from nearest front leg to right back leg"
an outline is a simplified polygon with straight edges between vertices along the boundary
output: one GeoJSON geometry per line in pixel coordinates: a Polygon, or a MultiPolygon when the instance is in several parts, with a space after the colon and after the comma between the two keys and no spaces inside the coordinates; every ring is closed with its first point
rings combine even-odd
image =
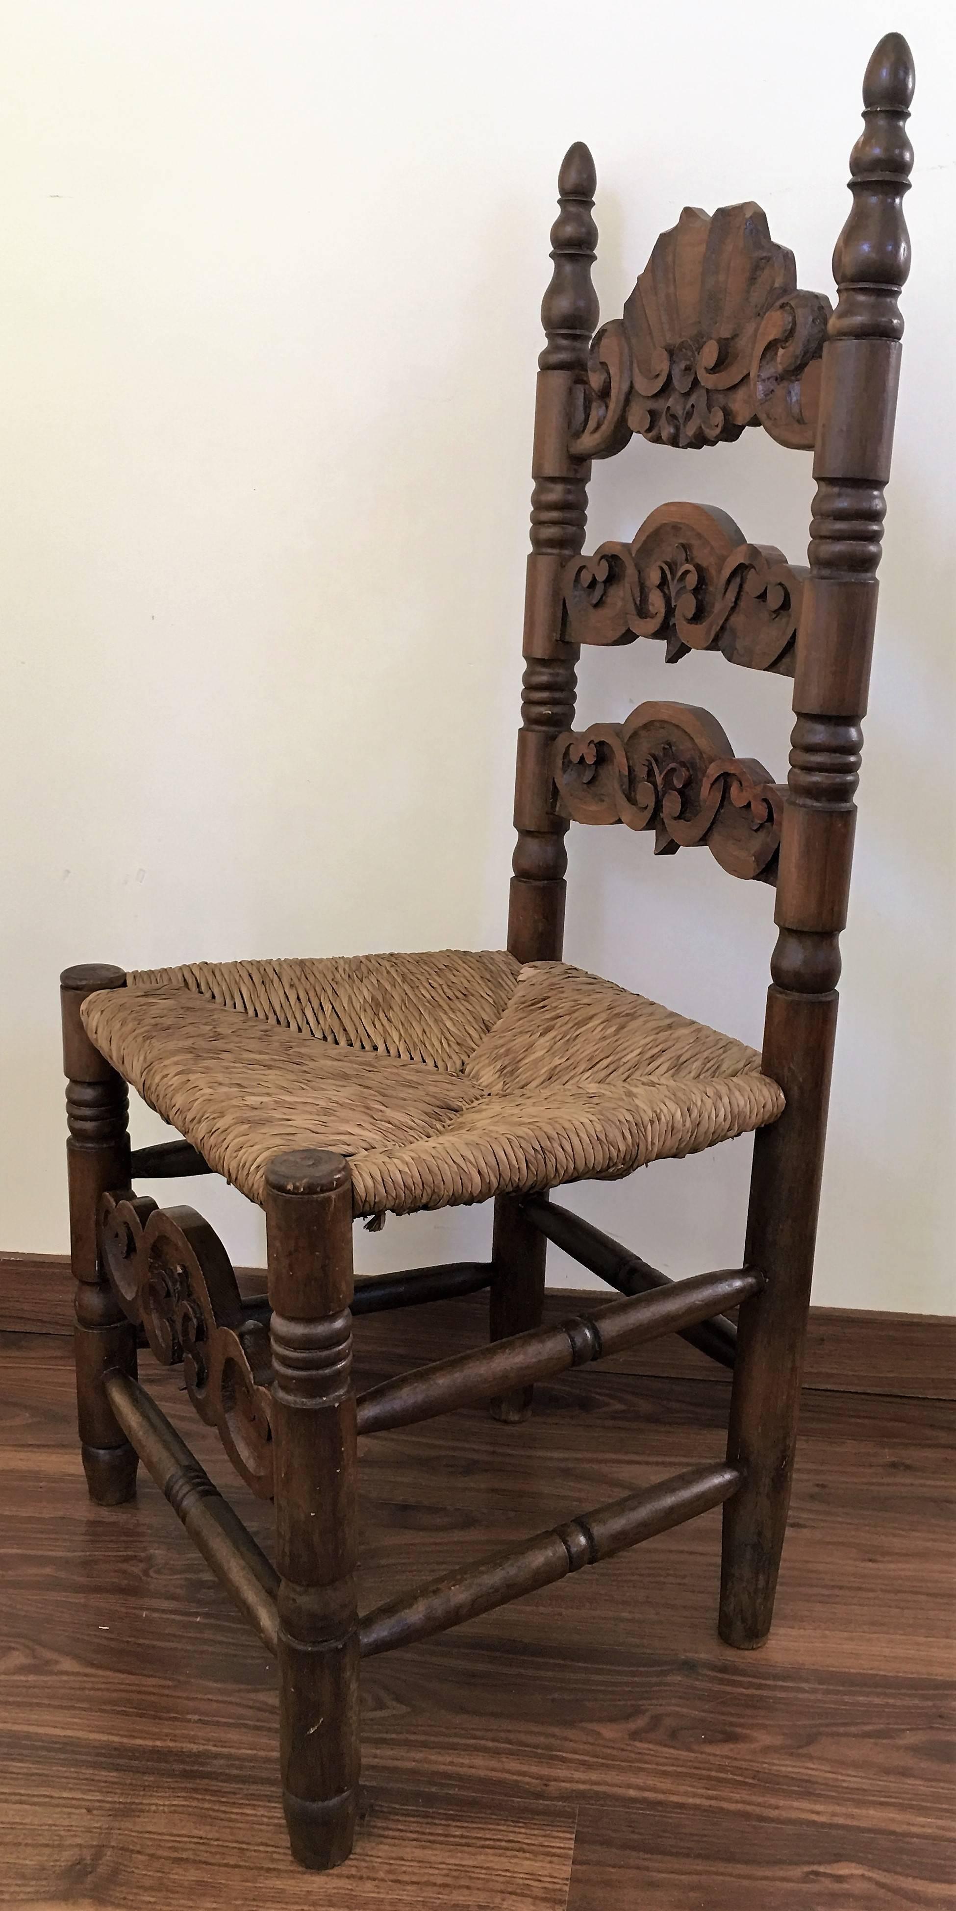
{"type": "Polygon", "coordinates": [[[467,1619],[491,1613],[511,1600],[541,1592],[543,1586],[553,1586],[583,1565],[612,1559],[641,1540],[723,1506],[732,1492],[738,1492],[740,1483],[742,1473],[734,1466],[690,1468],[686,1473],[662,1479],[656,1487],[627,1492],[591,1514],[579,1514],[549,1533],[535,1533],[533,1538],[520,1540],[491,1559],[457,1567],[455,1573],[367,1613],[359,1621],[361,1655],[371,1659],[377,1653],[390,1653],[396,1645],[409,1645],[432,1632],[445,1632],[467,1619]]]}

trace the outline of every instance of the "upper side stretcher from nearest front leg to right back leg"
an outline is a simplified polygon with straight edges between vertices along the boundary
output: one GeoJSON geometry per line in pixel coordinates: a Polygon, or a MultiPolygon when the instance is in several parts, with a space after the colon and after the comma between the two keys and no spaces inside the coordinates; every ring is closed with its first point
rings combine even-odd
{"type": "Polygon", "coordinates": [[[646,1294],[612,1301],[610,1307],[579,1313],[558,1326],[532,1328],[489,1347],[472,1347],[430,1366],[417,1366],[358,1399],[359,1433],[413,1426],[457,1406],[486,1401],[497,1389],[511,1391],[535,1380],[553,1380],[568,1366],[602,1361],[639,1340],[675,1334],[694,1321],[707,1321],[725,1307],[736,1307],[763,1284],[746,1269],[692,1275],[646,1294]]]}

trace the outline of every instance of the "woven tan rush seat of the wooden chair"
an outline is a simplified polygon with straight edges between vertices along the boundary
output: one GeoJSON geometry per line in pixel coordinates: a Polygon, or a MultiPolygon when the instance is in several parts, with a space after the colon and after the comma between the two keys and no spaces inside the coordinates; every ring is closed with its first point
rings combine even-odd
{"type": "Polygon", "coordinates": [[[616,1179],[784,1106],[742,1041],[503,952],[155,969],[82,1020],[243,1194],[264,1200],[270,1156],[333,1149],[358,1215],[616,1179]]]}

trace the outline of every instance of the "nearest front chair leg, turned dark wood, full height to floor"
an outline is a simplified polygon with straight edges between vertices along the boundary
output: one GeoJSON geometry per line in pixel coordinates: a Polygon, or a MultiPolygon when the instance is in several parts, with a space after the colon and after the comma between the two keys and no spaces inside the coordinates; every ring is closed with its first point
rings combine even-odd
{"type": "Polygon", "coordinates": [[[352,1181],[340,1154],[266,1171],[279,1586],[279,1749],[293,1857],[340,1865],[356,1833],[356,1397],[352,1181]]]}

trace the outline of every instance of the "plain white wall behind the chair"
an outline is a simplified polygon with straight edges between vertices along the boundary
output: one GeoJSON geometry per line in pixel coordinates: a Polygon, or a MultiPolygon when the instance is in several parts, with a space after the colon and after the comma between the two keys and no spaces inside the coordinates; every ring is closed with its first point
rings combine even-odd
{"type": "MultiPolygon", "coordinates": [[[[65,1248],[69,961],[501,946],[537,308],[598,166],[619,311],[690,201],[757,197],[830,289],[876,36],[918,63],[914,269],[816,1299],[950,1311],[952,13],[939,0],[29,0],[0,71],[6,797],[0,1248],[65,1248]]],[[[598,466],[591,526],[721,503],[797,562],[763,434],[598,466]]],[[[583,720],[669,694],[786,766],[788,688],[585,655],[583,720]]],[[[759,1043],[772,898],[572,835],[566,954],[759,1043]]],[[[136,1116],[136,1137],[159,1131],[136,1116]]],[[[740,1254],[750,1143],[574,1202],[671,1271],[740,1254]]],[[[260,1217],[203,1185],[239,1259],[260,1217]]],[[[478,1248],[390,1221],[359,1265],[478,1248]]],[[[554,1271],[560,1257],[554,1257],[554,1271]]]]}

